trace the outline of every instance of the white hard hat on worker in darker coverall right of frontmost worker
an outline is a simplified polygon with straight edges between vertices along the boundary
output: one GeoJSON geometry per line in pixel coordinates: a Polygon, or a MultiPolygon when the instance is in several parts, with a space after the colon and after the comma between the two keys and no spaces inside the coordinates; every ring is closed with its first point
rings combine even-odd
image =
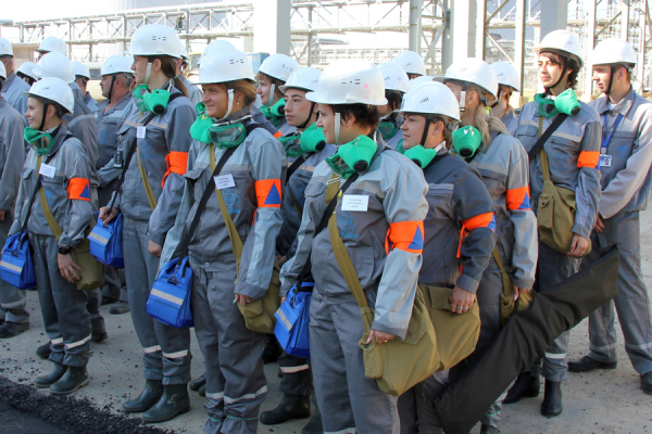
{"type": "Polygon", "coordinates": [[[455,94],[437,81],[423,82],[416,88],[411,88],[403,98],[400,112],[443,115],[460,122],[460,103],[455,94]]]}

